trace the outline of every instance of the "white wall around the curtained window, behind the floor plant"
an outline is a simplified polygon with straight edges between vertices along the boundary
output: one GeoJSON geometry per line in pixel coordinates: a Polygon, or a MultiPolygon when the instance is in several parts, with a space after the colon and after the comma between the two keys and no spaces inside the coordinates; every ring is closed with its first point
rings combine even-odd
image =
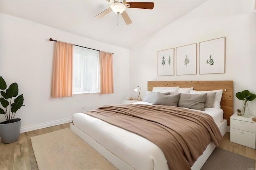
{"type": "MultiPolygon", "coordinates": [[[[76,112],[121,104],[129,95],[129,50],[0,13],[0,76],[17,82],[24,104],[22,128],[72,118],[76,112]],[[54,42],[49,38],[114,53],[114,94],[51,98],[54,42]]],[[[0,122],[4,115],[0,115],[0,122]]]]}

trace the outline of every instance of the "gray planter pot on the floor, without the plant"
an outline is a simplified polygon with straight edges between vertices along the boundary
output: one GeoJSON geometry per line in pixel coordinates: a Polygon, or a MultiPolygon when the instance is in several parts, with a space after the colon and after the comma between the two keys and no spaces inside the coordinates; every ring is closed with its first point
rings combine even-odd
{"type": "Polygon", "coordinates": [[[13,143],[20,136],[21,119],[13,119],[12,123],[3,121],[0,123],[0,137],[3,143],[13,143]]]}

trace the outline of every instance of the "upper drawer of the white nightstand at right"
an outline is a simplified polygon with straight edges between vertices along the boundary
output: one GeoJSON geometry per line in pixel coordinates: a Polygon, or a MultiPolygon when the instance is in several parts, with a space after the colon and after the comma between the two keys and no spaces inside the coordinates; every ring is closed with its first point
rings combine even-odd
{"type": "Polygon", "coordinates": [[[256,133],[256,123],[230,119],[230,128],[256,133]]]}

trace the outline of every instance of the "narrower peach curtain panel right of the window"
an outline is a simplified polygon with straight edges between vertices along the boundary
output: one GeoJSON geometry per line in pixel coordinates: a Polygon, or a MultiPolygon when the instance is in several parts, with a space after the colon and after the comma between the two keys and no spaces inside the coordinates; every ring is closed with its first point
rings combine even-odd
{"type": "Polygon", "coordinates": [[[100,51],[100,94],[114,93],[112,56],[100,51]]]}

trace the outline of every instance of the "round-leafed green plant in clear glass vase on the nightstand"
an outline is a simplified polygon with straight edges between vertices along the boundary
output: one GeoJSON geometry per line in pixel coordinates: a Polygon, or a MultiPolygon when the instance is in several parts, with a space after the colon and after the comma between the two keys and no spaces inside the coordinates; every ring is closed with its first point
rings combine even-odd
{"type": "Polygon", "coordinates": [[[249,90],[244,90],[242,92],[236,93],[236,98],[238,98],[239,100],[244,100],[242,116],[250,117],[251,113],[248,108],[247,102],[254,100],[256,98],[256,94],[252,94],[251,92],[249,92],[249,90]]]}

